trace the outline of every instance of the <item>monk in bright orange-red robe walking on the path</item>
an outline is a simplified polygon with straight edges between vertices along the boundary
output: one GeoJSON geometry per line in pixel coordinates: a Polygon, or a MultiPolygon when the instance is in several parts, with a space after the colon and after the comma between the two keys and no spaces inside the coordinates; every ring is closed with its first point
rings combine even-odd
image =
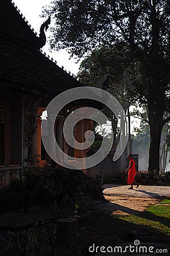
{"type": "Polygon", "coordinates": [[[132,158],[132,154],[129,154],[128,159],[130,160],[129,166],[125,172],[128,172],[127,184],[130,184],[131,187],[128,189],[134,189],[133,184],[136,185],[136,188],[139,187],[139,183],[135,181],[136,168],[135,168],[135,160],[132,158]]]}

